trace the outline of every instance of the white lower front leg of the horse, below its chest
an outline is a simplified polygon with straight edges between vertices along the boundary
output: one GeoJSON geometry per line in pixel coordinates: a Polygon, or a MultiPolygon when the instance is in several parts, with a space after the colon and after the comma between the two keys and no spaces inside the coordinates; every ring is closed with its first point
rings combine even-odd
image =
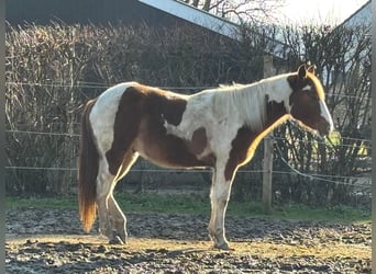
{"type": "Polygon", "coordinates": [[[224,171],[214,171],[210,191],[211,218],[208,226],[209,235],[214,241],[214,248],[228,250],[225,238],[224,217],[231,192],[231,180],[225,180],[224,171]]]}

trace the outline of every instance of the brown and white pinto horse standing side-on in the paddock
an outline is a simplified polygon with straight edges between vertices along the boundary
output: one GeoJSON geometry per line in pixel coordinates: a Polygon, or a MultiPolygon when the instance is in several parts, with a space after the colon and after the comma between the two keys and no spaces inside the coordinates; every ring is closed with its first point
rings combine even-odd
{"type": "Polygon", "coordinates": [[[229,249],[224,215],[236,170],[262,138],[292,118],[321,136],[333,128],[314,68],[300,66],[256,83],[193,95],[125,82],[86,104],[79,156],[79,214],[85,231],[96,219],[110,242],[124,243],[126,219],[112,192],[139,156],[168,168],[212,168],[214,247],[229,249]]]}

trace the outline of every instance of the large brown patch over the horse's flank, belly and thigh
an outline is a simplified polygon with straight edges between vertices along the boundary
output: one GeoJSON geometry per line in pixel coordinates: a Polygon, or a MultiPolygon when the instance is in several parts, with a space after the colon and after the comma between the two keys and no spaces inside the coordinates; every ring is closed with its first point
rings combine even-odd
{"type": "Polygon", "coordinates": [[[112,147],[106,153],[110,172],[115,175],[122,163],[128,164],[130,150],[140,151],[158,165],[208,167],[212,157],[197,157],[197,151],[204,149],[204,130],[199,129],[193,140],[187,142],[167,134],[164,126],[166,122],[179,125],[186,105],[184,95],[141,84],[128,88],[119,102],[112,147]]]}

